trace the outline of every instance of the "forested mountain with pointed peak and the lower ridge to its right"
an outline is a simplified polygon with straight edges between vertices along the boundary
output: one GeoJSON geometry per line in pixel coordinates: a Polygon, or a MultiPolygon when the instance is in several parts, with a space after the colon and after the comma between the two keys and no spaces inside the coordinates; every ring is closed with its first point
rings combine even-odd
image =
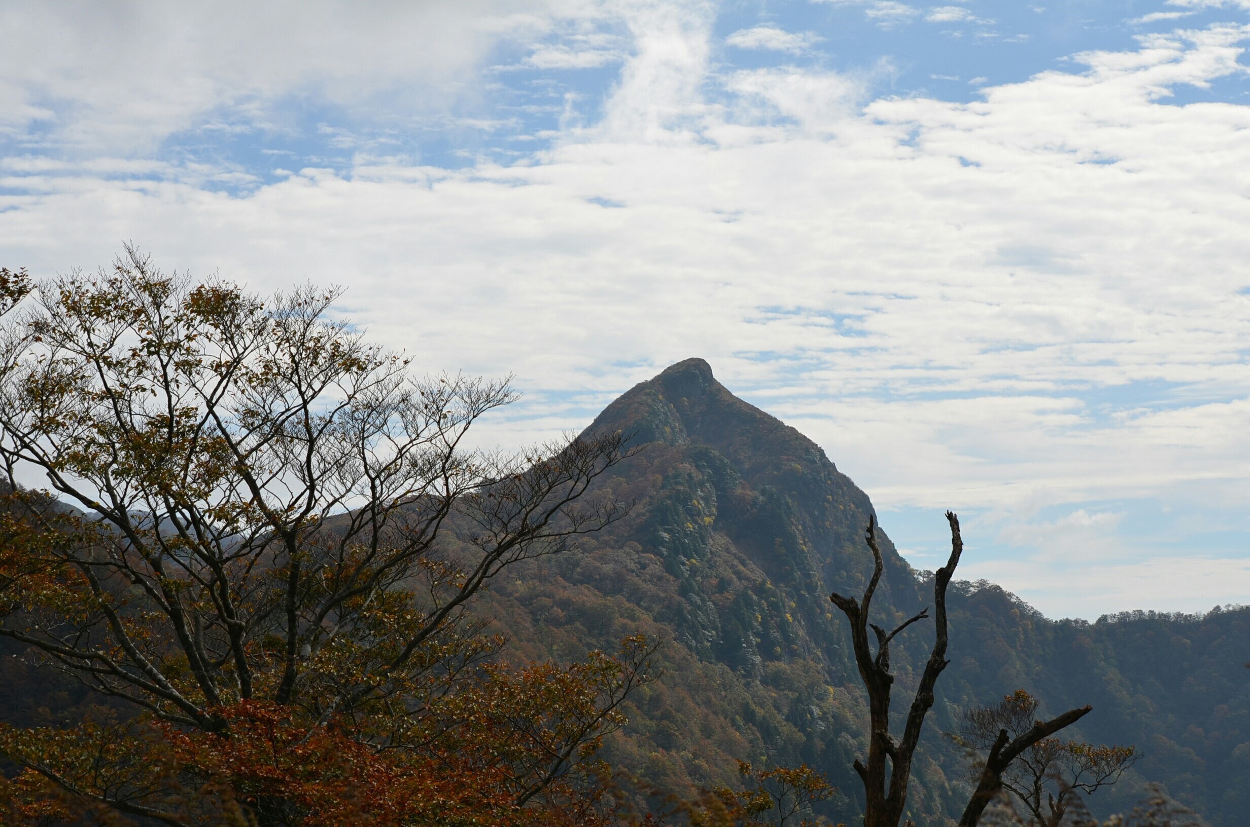
{"type": "MultiPolygon", "coordinates": [[[[630,516],[579,552],[516,572],[481,610],[530,657],[578,656],[636,630],[670,641],[665,677],[636,698],[610,757],[672,787],[729,782],[736,758],[804,761],[841,790],[826,815],[850,822],[866,711],[828,595],[862,590],[868,496],[698,359],[631,389],[589,430],[630,433],[641,448],[605,482],[635,503],[630,516]]],[[[874,620],[889,626],[926,605],[931,587],[888,538],[881,545],[874,620]]],[[[951,666],[910,796],[918,825],[945,823],[966,801],[942,731],[962,708],[1016,688],[1050,713],[1092,703],[1075,736],[1141,750],[1125,781],[1089,802],[1095,812],[1128,810],[1146,781],[1161,781],[1212,825],[1245,822],[1250,612],[1050,621],[992,585],[966,582],[952,587],[950,608],[951,666]]],[[[910,701],[911,665],[930,640],[921,627],[895,651],[895,708],[910,701]]]]}

